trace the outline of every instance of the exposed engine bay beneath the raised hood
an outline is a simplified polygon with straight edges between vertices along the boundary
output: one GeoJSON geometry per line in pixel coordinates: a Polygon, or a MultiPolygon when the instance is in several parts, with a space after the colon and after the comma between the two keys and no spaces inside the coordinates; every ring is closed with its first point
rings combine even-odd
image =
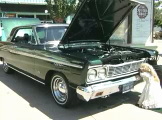
{"type": "Polygon", "coordinates": [[[75,54],[81,53],[89,56],[96,56],[103,64],[120,64],[150,57],[150,55],[143,50],[107,44],[77,47],[75,49],[69,49],[68,51],[75,54]]]}

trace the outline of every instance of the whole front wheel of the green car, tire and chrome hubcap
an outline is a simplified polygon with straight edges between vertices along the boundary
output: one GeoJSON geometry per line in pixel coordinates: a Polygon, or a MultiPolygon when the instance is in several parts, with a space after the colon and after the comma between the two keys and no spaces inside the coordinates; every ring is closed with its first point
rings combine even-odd
{"type": "Polygon", "coordinates": [[[55,102],[62,107],[70,107],[76,101],[76,92],[69,87],[66,77],[54,74],[51,80],[51,92],[55,102]]]}

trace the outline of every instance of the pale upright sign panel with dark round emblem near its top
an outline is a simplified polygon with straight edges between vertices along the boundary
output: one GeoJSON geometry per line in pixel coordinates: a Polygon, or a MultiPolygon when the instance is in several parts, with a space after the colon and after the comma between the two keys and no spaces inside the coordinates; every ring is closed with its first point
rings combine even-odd
{"type": "Polygon", "coordinates": [[[132,43],[151,45],[153,42],[153,0],[139,0],[144,4],[138,5],[132,13],[132,43]]]}

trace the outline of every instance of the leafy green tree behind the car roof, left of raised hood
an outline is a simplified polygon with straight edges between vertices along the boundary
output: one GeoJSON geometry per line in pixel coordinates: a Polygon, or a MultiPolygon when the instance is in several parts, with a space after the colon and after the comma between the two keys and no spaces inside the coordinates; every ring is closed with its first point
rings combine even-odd
{"type": "Polygon", "coordinates": [[[50,13],[50,18],[54,22],[63,22],[70,14],[74,14],[80,2],[77,0],[46,0],[47,9],[50,13]]]}

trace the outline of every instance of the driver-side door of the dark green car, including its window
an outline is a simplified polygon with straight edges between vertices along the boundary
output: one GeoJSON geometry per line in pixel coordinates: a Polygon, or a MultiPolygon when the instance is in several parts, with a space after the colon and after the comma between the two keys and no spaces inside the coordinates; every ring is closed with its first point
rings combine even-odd
{"type": "Polygon", "coordinates": [[[32,27],[19,28],[10,50],[11,64],[19,70],[34,75],[35,46],[37,44],[32,27]]]}

